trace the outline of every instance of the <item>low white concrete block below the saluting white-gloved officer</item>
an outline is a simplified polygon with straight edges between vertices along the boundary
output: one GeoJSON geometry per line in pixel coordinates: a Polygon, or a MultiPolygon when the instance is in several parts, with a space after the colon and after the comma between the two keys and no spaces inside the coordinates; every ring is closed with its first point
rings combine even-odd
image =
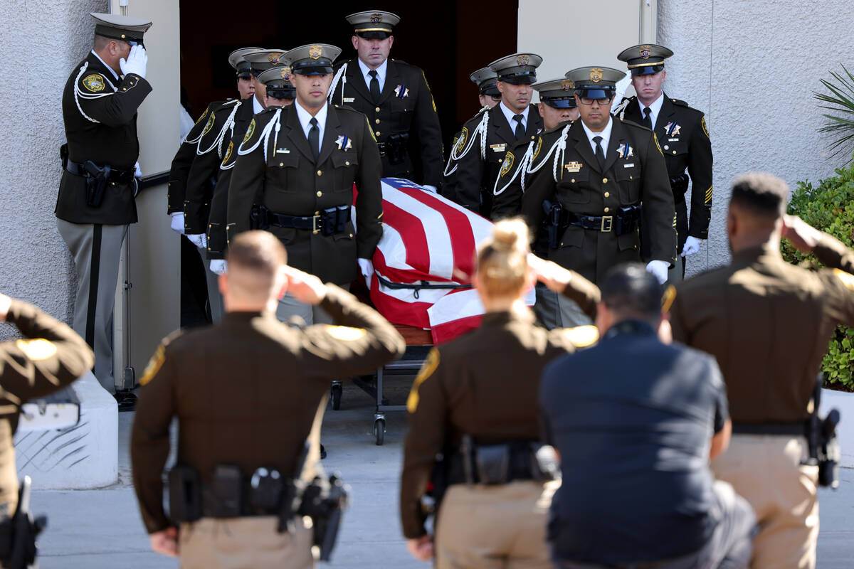
{"type": "Polygon", "coordinates": [[[80,401],[74,427],[15,435],[18,477],[36,490],[89,490],[119,479],[119,409],[91,372],[73,384],[80,401]]]}

